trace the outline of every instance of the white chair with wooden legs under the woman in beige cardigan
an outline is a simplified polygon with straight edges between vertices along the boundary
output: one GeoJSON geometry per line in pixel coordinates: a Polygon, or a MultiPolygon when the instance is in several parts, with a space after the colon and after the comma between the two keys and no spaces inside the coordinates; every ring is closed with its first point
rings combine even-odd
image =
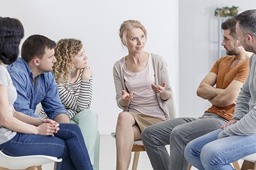
{"type": "MultiPolygon", "coordinates": [[[[178,113],[176,111],[175,91],[174,91],[173,86],[171,86],[171,92],[172,92],[173,96],[167,102],[170,119],[178,117],[178,113]]],[[[116,138],[116,133],[112,132],[111,136],[116,138]]],[[[136,170],[138,167],[140,151],[145,151],[142,140],[135,140],[134,144],[133,144],[133,149],[131,151],[134,151],[132,170],[136,170]]]]}

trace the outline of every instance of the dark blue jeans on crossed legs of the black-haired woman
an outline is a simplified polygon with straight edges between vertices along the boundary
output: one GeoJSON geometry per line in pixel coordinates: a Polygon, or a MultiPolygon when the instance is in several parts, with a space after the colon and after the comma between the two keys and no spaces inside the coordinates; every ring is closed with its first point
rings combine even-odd
{"type": "Polygon", "coordinates": [[[17,133],[11,140],[0,145],[3,153],[17,157],[25,155],[48,155],[62,158],[60,169],[92,170],[85,141],[77,125],[60,123],[55,136],[17,133]]]}

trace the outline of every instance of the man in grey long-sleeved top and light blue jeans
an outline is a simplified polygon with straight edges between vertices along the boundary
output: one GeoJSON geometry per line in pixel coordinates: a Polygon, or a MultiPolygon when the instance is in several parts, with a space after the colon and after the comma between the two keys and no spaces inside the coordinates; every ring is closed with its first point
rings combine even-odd
{"type": "Polygon", "coordinates": [[[239,42],[254,53],[250,57],[250,70],[232,120],[186,146],[186,159],[198,169],[233,169],[230,163],[256,153],[256,10],[242,12],[236,20],[239,42]]]}

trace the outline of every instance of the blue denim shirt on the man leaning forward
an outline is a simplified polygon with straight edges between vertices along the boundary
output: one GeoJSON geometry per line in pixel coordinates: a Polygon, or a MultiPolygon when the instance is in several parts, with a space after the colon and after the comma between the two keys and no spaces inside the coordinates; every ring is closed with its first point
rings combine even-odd
{"type": "Polygon", "coordinates": [[[23,58],[18,58],[12,65],[7,66],[7,70],[17,90],[17,99],[14,103],[16,111],[40,118],[34,112],[37,104],[41,102],[50,119],[61,113],[69,116],[60,102],[58,85],[52,72],[41,73],[33,80],[33,72],[23,58]]]}

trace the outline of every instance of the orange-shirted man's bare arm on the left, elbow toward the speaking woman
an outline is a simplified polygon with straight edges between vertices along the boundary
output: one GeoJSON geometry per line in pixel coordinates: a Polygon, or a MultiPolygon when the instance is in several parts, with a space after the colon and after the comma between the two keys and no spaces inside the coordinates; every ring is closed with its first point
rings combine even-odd
{"type": "Polygon", "coordinates": [[[213,87],[216,84],[216,79],[217,75],[213,72],[209,72],[197,88],[196,93],[198,97],[210,100],[221,93],[223,89],[216,89],[213,87]]]}

